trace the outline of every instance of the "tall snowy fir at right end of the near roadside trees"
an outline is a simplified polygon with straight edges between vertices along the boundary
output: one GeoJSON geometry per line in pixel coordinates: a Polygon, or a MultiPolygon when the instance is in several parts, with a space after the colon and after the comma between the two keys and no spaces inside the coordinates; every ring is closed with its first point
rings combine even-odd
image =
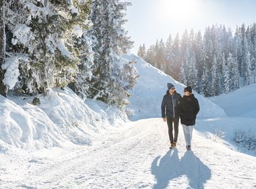
{"type": "Polygon", "coordinates": [[[119,107],[128,103],[127,90],[133,88],[137,78],[134,65],[121,58],[133,44],[123,28],[128,5],[119,0],[93,0],[90,14],[94,24],[90,34],[98,41],[94,47],[96,77],[92,78],[90,94],[94,99],[119,107]]]}

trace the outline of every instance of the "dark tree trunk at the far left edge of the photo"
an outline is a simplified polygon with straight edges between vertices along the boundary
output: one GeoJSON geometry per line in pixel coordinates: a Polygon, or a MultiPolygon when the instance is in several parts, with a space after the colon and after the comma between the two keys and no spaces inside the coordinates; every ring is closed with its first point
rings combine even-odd
{"type": "Polygon", "coordinates": [[[6,97],[6,86],[3,84],[5,70],[1,66],[5,63],[5,1],[0,0],[0,94],[6,97]]]}

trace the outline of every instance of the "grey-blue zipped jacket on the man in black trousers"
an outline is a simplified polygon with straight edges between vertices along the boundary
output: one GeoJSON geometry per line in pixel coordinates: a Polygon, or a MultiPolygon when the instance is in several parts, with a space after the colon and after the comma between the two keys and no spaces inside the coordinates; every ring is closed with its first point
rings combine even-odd
{"type": "Polygon", "coordinates": [[[164,98],[162,99],[162,117],[178,117],[179,118],[179,103],[181,102],[181,94],[177,93],[176,90],[172,95],[169,91],[166,91],[164,98]]]}

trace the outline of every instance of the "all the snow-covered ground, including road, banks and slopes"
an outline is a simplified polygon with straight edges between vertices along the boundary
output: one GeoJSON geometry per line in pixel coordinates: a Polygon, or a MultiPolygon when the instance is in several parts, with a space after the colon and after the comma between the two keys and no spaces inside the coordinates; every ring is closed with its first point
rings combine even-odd
{"type": "MultiPolygon", "coordinates": [[[[255,109],[239,101],[240,90],[211,101],[195,92],[201,110],[192,151],[181,125],[169,150],[160,104],[167,82],[180,93],[184,86],[141,58],[125,58],[137,61],[140,75],[130,91],[131,121],[69,88],[39,96],[38,107],[32,97],[0,97],[0,188],[256,188],[254,151],[233,141],[235,131],[256,132],[255,109]]],[[[248,103],[255,85],[245,89],[248,103]]]]}

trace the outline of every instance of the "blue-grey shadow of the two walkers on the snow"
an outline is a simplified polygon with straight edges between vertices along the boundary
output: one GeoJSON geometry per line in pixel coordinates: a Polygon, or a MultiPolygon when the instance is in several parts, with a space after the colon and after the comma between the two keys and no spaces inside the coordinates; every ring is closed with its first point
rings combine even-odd
{"type": "MultiPolygon", "coordinates": [[[[186,151],[179,160],[178,150],[173,149],[158,160],[156,157],[151,165],[151,172],[156,178],[153,188],[166,188],[172,179],[187,176],[191,188],[203,188],[203,184],[211,178],[211,170],[205,166],[193,151],[186,151]]],[[[179,187],[179,186],[176,186],[179,187]]]]}

